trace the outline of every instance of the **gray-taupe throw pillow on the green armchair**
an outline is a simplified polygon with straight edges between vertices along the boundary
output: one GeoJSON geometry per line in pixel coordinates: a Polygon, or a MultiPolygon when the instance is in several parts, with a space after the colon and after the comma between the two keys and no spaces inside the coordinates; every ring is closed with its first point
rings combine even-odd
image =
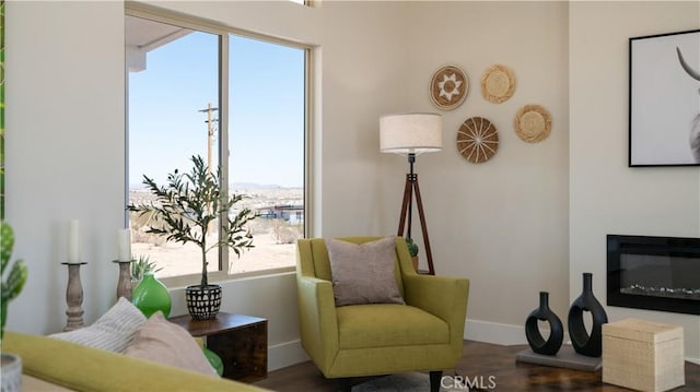
{"type": "Polygon", "coordinates": [[[396,286],[396,238],[352,243],[326,239],[336,306],[405,304],[396,286]]]}

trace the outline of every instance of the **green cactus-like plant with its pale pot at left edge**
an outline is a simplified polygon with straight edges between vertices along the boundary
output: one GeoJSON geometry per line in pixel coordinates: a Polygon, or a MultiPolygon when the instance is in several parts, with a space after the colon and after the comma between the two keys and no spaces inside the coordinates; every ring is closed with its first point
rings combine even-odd
{"type": "MultiPolygon", "coordinates": [[[[14,233],[7,223],[0,224],[0,261],[2,268],[2,302],[0,304],[0,340],[4,335],[4,323],[8,320],[8,305],[16,298],[26,283],[27,270],[22,260],[16,260],[5,277],[5,270],[10,266],[10,257],[14,247],[14,233]]],[[[14,354],[2,353],[0,355],[0,367],[2,368],[2,391],[15,392],[22,390],[22,359],[14,354]]]]}

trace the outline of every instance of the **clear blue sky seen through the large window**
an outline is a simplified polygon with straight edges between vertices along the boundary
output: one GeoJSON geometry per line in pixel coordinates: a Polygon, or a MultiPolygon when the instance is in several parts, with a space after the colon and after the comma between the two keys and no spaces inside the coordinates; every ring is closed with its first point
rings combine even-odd
{"type": "MultiPolygon", "coordinates": [[[[217,59],[218,36],[196,32],[150,51],[147,69],[129,74],[129,183],[144,174],[161,183],[187,170],[191,155],[206,158],[199,110],[219,107],[217,59]]],[[[303,49],[232,35],[229,78],[230,182],[302,187],[303,49]]]]}

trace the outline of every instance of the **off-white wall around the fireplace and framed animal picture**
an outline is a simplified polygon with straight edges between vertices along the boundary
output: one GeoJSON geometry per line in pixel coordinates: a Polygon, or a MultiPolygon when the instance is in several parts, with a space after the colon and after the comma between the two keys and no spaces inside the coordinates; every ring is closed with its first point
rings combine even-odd
{"type": "MultiPolygon", "coordinates": [[[[607,234],[700,236],[697,167],[627,167],[628,38],[699,27],[697,1],[570,5],[572,300],[581,292],[581,274],[592,272],[594,293],[606,302],[607,234]]],[[[635,317],[682,325],[686,356],[700,358],[700,317],[606,311],[610,321],[635,317]]]]}

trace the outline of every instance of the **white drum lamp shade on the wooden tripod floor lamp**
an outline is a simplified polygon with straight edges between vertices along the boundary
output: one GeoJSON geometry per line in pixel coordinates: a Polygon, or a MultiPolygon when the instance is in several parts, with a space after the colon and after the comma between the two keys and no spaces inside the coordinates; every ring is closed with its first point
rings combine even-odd
{"type": "Polygon", "coordinates": [[[422,154],[442,150],[442,116],[429,112],[382,116],[380,150],[396,154],[422,154]]]}

